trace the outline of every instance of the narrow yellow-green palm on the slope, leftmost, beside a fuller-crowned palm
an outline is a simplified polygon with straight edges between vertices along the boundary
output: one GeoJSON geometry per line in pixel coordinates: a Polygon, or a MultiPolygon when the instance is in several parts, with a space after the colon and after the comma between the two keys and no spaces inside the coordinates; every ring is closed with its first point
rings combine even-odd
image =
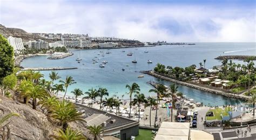
{"type": "Polygon", "coordinates": [[[21,81],[21,84],[18,86],[19,98],[23,98],[23,102],[26,103],[27,97],[26,97],[26,91],[30,89],[33,86],[33,83],[31,80],[23,79],[21,81]]]}

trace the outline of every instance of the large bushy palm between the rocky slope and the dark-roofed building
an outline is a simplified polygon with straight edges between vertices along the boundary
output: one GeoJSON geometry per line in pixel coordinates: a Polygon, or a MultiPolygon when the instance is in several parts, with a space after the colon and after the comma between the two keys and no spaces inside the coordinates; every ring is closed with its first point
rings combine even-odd
{"type": "Polygon", "coordinates": [[[51,117],[55,122],[62,125],[62,129],[65,132],[69,126],[69,122],[73,121],[84,121],[82,113],[77,112],[75,105],[69,101],[57,101],[56,104],[53,104],[51,117]]]}

